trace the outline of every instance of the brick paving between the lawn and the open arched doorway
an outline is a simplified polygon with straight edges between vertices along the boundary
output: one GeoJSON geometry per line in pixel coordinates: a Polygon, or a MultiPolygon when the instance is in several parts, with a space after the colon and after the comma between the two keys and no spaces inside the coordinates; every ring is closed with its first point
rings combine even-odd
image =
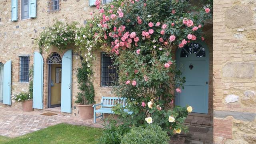
{"type": "Polygon", "coordinates": [[[44,112],[23,112],[22,110],[0,106],[0,135],[13,138],[60,123],[102,128],[102,122],[94,124],[93,119],[81,120],[76,116],[64,116],[60,113],[55,116],[40,115],[44,112]]]}

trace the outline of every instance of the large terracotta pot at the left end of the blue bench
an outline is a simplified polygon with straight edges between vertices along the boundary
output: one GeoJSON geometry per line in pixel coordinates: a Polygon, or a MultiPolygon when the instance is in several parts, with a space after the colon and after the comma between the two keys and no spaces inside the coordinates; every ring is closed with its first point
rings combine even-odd
{"type": "Polygon", "coordinates": [[[93,118],[93,104],[80,105],[78,104],[79,116],[82,120],[93,118]]]}

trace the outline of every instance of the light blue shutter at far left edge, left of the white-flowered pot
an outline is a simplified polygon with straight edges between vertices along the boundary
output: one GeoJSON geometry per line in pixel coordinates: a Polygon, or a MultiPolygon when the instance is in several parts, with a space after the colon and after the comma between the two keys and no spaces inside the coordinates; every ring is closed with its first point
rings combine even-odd
{"type": "Polygon", "coordinates": [[[9,60],[4,64],[4,86],[3,86],[3,103],[11,105],[11,73],[12,73],[12,61],[9,60]]]}

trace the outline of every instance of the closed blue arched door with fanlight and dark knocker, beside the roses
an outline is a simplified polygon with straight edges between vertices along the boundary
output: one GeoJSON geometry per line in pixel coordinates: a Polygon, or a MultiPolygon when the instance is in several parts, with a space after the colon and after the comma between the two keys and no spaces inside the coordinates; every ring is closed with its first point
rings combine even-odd
{"type": "Polygon", "coordinates": [[[204,42],[190,43],[176,53],[177,67],[186,77],[184,89],[176,93],[175,104],[190,105],[193,112],[208,114],[209,50],[204,42]]]}

